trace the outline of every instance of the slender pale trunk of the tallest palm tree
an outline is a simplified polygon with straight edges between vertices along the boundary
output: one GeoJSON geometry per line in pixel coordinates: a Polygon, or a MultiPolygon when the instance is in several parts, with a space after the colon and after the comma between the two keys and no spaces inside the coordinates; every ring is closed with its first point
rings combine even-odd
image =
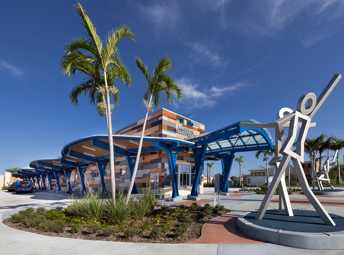
{"type": "Polygon", "coordinates": [[[105,80],[105,93],[106,93],[106,106],[107,106],[107,122],[108,122],[108,136],[109,136],[109,149],[110,149],[110,182],[111,182],[111,196],[114,204],[116,203],[116,178],[115,178],[115,162],[114,162],[114,141],[112,139],[112,124],[111,124],[111,104],[110,95],[106,80],[106,71],[104,70],[105,80]]]}

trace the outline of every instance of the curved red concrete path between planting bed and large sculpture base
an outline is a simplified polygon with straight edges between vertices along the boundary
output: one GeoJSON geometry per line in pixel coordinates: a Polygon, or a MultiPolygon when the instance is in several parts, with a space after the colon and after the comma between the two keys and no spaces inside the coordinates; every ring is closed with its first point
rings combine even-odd
{"type": "Polygon", "coordinates": [[[238,230],[237,216],[225,215],[204,223],[201,236],[187,244],[264,244],[238,230]]]}

